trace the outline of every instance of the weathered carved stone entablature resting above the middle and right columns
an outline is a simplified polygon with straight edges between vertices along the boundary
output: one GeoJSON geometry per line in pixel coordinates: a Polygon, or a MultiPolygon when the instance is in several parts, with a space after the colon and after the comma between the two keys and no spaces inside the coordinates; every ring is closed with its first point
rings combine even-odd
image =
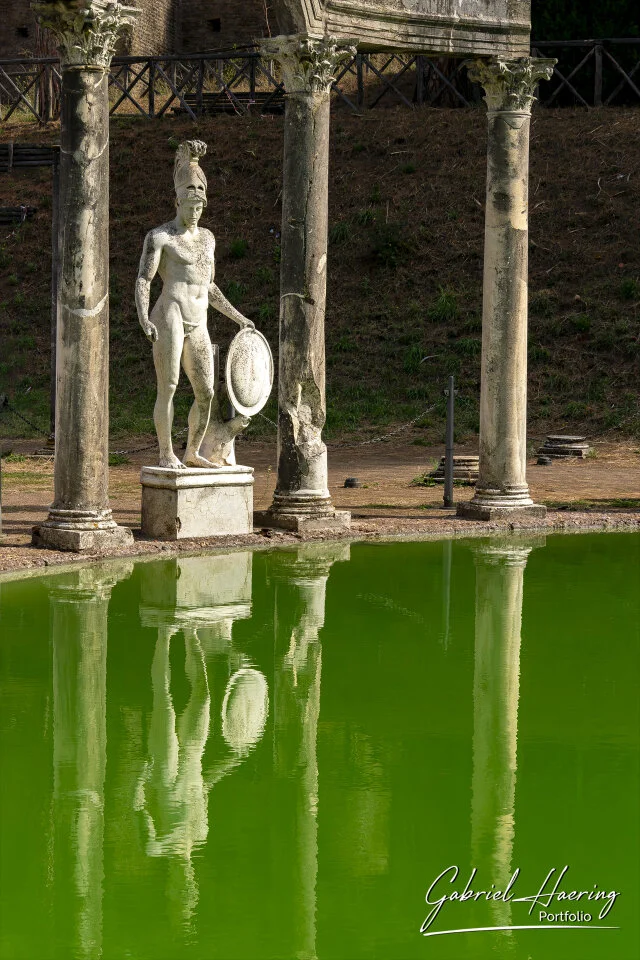
{"type": "Polygon", "coordinates": [[[417,53],[529,52],[529,0],[275,0],[281,33],[357,37],[361,47],[417,53]]]}

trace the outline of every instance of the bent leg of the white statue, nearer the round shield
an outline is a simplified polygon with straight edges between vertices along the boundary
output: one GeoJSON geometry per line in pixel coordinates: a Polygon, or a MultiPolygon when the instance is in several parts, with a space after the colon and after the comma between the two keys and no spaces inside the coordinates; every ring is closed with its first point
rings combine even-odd
{"type": "Polygon", "coordinates": [[[182,364],[195,397],[189,411],[189,435],[182,462],[185,467],[218,467],[219,463],[200,454],[213,400],[213,348],[206,324],[196,327],[185,337],[182,364]]]}

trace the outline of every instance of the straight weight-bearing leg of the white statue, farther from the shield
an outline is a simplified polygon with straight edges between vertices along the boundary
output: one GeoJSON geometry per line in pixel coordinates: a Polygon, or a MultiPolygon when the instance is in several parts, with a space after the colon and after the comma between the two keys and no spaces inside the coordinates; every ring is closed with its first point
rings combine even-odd
{"type": "Polygon", "coordinates": [[[153,409],[153,422],[158,434],[160,448],[159,465],[182,469],[183,464],[173,452],[171,427],[173,425],[173,397],[180,378],[180,357],[184,342],[182,317],[175,304],[166,315],[151,315],[158,329],[158,339],[153,345],[153,362],[158,379],[158,395],[153,409]]]}

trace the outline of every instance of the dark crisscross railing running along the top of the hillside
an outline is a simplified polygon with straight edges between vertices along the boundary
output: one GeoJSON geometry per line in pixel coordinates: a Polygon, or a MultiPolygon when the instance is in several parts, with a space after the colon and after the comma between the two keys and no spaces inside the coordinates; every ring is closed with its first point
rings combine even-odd
{"type": "MultiPolygon", "coordinates": [[[[556,56],[555,84],[540,87],[541,103],[585,107],[640,102],[640,39],[532,43],[535,56],[556,56]]],[[[381,103],[471,106],[481,99],[464,61],[402,53],[358,53],[333,84],[335,99],[361,113],[381,103]]],[[[114,57],[111,114],[161,117],[181,112],[273,113],[283,110],[276,66],[256,50],[196,56],[114,57]]],[[[0,123],[57,119],[60,65],[53,58],[0,60],[0,123]]]]}

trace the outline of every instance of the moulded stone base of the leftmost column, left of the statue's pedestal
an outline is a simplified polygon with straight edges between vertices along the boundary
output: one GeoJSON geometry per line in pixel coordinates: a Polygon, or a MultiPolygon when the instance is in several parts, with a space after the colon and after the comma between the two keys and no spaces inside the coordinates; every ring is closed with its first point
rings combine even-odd
{"type": "Polygon", "coordinates": [[[52,510],[44,523],[33,528],[34,547],[71,553],[101,553],[133,543],[129,527],[120,527],[111,510],[52,510]]]}

